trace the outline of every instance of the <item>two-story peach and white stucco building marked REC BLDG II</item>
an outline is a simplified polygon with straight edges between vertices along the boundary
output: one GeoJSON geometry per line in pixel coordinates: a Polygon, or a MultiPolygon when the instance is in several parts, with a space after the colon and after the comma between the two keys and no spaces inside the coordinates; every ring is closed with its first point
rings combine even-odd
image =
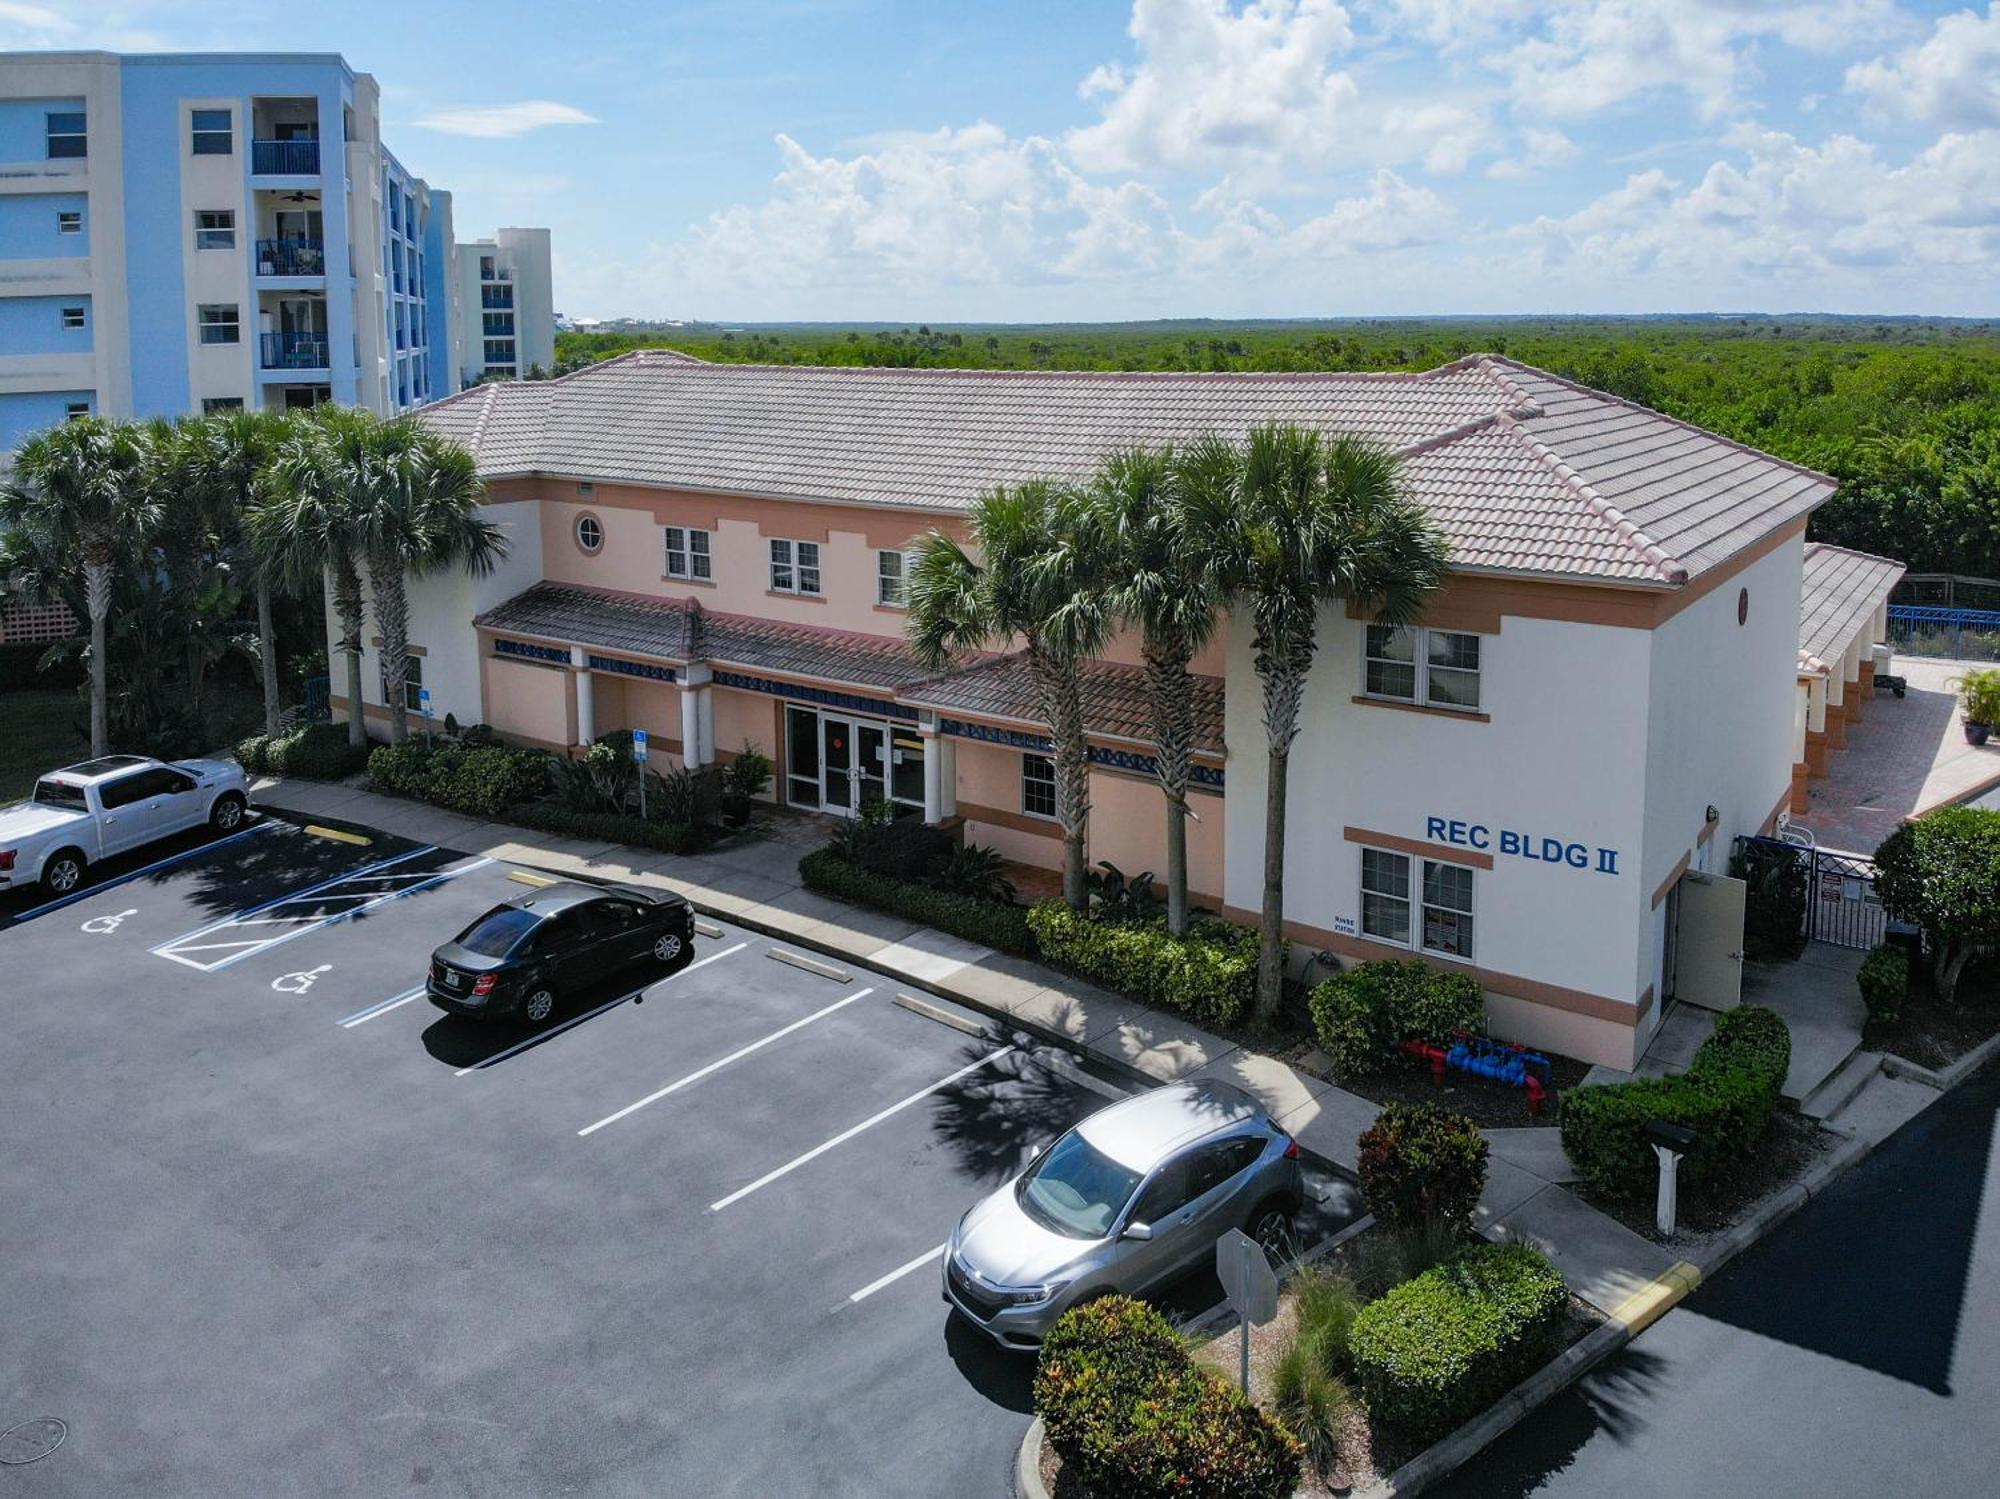
{"type": "MultiPolygon", "coordinates": [[[[962,532],[992,484],[1084,476],[1138,442],[1270,420],[1370,436],[1404,456],[1454,562],[1414,630],[1326,612],[1292,751],[1296,941],[1462,965],[1496,1031],[1626,1067],[1666,995],[1734,1003],[1740,885],[1714,875],[1792,795],[1822,474],[1498,358],[1176,376],[650,352],[424,420],[478,456],[512,538],[492,578],[414,584],[436,714],[552,748],[644,728],[694,763],[754,744],[790,805],[890,797],[1036,865],[1060,863],[1060,837],[1020,660],[918,666],[908,548],[962,532]]],[[[1164,847],[1136,662],[1120,640],[1086,694],[1090,855],[1128,871],[1164,847]]],[[[1226,626],[1196,670],[1190,883],[1248,917],[1248,632],[1226,626]]]]}

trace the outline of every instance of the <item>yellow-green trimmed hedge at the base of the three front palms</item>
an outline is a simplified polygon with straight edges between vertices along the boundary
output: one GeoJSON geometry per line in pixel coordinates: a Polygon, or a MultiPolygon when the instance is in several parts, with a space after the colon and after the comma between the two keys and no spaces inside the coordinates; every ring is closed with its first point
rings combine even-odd
{"type": "Polygon", "coordinates": [[[1102,921],[1060,899],[1028,911],[1042,955],[1106,989],[1202,1025],[1234,1025],[1256,997],[1256,931],[1196,921],[1188,935],[1164,919],[1102,921]]]}

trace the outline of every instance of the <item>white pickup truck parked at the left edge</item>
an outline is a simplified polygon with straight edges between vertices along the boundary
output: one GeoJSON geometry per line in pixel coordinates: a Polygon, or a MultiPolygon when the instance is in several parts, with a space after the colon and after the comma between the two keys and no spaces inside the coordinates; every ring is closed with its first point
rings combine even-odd
{"type": "Polygon", "coordinates": [[[26,801],[0,807],[0,889],[40,879],[68,895],[100,859],[202,823],[234,833],[248,809],[234,759],[104,755],[54,769],[26,801]]]}

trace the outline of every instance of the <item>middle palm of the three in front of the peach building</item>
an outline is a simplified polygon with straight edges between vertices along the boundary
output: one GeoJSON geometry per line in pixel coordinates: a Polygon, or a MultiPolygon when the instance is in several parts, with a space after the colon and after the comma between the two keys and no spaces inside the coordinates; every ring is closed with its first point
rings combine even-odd
{"type": "Polygon", "coordinates": [[[1194,676],[1190,664],[1214,638],[1224,606],[1214,554],[1188,536],[1194,514],[1230,512],[1236,450],[1206,438],[1174,452],[1138,448],[1098,468],[1092,498],[1116,548],[1112,608],[1140,630],[1146,702],[1160,789],[1166,793],[1166,925],[1188,929],[1188,783],[1194,773],[1194,676]]]}

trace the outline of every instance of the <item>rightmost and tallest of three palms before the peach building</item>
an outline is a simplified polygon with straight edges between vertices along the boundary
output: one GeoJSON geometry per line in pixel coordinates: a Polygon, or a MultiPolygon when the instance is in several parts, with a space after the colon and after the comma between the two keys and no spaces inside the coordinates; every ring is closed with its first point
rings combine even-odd
{"type": "Polygon", "coordinates": [[[1192,506],[1226,592],[1250,614],[1264,696],[1264,911],[1256,1013],[1284,997],[1284,817],[1298,712],[1318,650],[1320,608],[1344,600],[1380,624],[1416,620],[1444,582],[1444,534],[1402,490],[1394,454],[1360,438],[1264,426],[1242,450],[1234,506],[1192,506]]]}

